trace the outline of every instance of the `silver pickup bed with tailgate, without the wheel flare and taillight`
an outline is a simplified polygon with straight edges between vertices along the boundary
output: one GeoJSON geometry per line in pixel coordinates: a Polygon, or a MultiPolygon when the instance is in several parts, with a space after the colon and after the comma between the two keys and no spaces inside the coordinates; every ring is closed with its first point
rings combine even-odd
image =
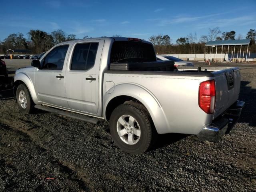
{"type": "Polygon", "coordinates": [[[107,70],[104,83],[106,81],[114,82],[116,87],[135,84],[157,98],[168,124],[162,133],[198,134],[202,126],[211,124],[238,100],[240,91],[239,68],[202,67],[198,71],[197,67],[178,67],[176,72],[107,70]],[[227,79],[229,73],[233,76],[232,88],[227,79]],[[206,114],[198,105],[199,85],[212,79],[216,83],[215,110],[213,114],[206,114]]]}

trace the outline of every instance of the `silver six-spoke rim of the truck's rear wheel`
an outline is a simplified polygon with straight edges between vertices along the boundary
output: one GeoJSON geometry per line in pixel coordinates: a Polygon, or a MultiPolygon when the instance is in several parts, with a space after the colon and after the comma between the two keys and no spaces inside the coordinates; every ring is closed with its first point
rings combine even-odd
{"type": "Polygon", "coordinates": [[[122,115],[118,119],[116,130],[120,139],[128,145],[134,145],[140,140],[140,126],[137,120],[130,115],[122,115]]]}

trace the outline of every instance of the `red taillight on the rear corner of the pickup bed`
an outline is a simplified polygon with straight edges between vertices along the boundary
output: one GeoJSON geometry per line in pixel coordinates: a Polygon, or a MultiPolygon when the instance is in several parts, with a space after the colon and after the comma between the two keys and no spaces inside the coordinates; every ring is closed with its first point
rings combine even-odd
{"type": "Polygon", "coordinates": [[[207,114],[212,114],[215,107],[215,81],[209,80],[199,85],[199,107],[207,114]]]}

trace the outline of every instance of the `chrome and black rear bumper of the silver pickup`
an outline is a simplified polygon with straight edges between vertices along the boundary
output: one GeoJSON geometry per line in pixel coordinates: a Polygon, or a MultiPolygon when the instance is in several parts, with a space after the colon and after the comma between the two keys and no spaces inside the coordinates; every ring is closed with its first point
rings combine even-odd
{"type": "Polygon", "coordinates": [[[198,134],[198,138],[217,142],[224,134],[228,134],[238,121],[245,102],[237,101],[220,117],[214,119],[212,124],[205,126],[198,134]]]}

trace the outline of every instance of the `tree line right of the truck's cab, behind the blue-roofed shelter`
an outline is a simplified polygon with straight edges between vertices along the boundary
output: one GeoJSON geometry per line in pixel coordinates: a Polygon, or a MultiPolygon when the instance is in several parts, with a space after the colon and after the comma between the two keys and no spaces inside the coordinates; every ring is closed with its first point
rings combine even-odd
{"type": "MultiPolygon", "coordinates": [[[[251,52],[256,52],[256,30],[250,29],[246,34],[246,39],[251,39],[252,45],[249,46],[251,52]]],[[[242,34],[236,36],[234,30],[230,32],[221,32],[219,27],[209,28],[207,35],[200,36],[199,40],[197,34],[189,33],[186,37],[180,37],[176,40],[176,44],[172,43],[172,39],[168,35],[159,34],[148,38],[155,47],[157,54],[199,54],[210,53],[210,47],[205,46],[206,42],[214,40],[239,40],[244,39],[242,34]]],[[[221,51],[217,48],[218,53],[221,51]]],[[[226,52],[226,47],[224,48],[226,52]]]]}

